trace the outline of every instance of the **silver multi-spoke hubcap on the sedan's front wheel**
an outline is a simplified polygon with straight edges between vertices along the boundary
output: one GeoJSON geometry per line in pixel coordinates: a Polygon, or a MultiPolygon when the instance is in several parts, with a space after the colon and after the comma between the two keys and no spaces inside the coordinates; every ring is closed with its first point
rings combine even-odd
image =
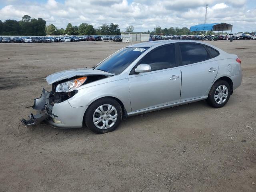
{"type": "Polygon", "coordinates": [[[117,115],[117,110],[114,106],[104,104],[94,111],[92,120],[97,128],[108,129],[116,123],[117,115]]]}

